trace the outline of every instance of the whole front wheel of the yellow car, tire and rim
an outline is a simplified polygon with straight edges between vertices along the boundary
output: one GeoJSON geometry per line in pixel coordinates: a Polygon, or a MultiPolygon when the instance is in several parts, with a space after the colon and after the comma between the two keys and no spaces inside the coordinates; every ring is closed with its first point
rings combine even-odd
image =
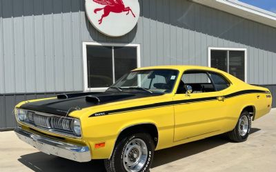
{"type": "Polygon", "coordinates": [[[121,139],[110,160],[105,160],[107,172],[146,172],[153,160],[154,143],[148,133],[135,133],[121,139]]]}

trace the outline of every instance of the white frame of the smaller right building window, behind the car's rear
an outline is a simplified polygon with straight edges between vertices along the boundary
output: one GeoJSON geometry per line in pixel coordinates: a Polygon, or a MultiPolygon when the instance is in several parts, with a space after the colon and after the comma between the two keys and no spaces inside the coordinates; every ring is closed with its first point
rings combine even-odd
{"type": "MultiPolygon", "coordinates": [[[[247,82],[247,48],[217,48],[217,47],[208,47],[208,67],[211,67],[211,50],[238,50],[244,51],[244,82],[247,82]]],[[[229,53],[227,55],[229,57],[229,53]]],[[[229,60],[229,58],[227,59],[229,60]]],[[[229,61],[227,61],[229,66],[229,61]]],[[[228,68],[228,67],[227,67],[228,68]]]]}

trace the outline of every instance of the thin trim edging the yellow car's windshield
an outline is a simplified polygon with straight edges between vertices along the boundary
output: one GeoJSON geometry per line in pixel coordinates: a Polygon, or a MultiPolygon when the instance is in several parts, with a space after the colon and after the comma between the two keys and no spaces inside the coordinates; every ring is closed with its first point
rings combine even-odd
{"type": "MultiPolygon", "coordinates": [[[[115,86],[117,83],[121,82],[121,80],[124,79],[124,77],[126,77],[126,75],[128,75],[129,73],[132,73],[132,72],[143,72],[143,71],[148,71],[148,70],[174,70],[174,71],[176,71],[177,75],[175,77],[175,83],[172,86],[172,90],[170,90],[170,92],[162,93],[162,94],[170,94],[170,93],[173,92],[173,90],[175,90],[175,84],[177,84],[177,79],[179,77],[179,70],[174,69],[174,68],[148,68],[148,69],[141,69],[141,70],[139,70],[139,69],[131,70],[130,72],[128,72],[125,75],[123,75],[120,79],[118,79],[118,81],[115,82],[114,84],[112,84],[110,87],[115,86]]],[[[121,87],[121,88],[124,88],[124,87],[121,87]]],[[[152,91],[152,93],[159,93],[159,92],[152,91]]]]}

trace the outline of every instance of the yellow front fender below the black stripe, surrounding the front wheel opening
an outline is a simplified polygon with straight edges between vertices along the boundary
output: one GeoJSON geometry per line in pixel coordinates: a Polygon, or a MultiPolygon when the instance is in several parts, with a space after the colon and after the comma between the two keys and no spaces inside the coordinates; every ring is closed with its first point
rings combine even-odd
{"type": "Polygon", "coordinates": [[[119,134],[137,124],[155,124],[159,133],[157,150],[172,144],[175,124],[173,106],[97,117],[81,117],[83,140],[90,144],[92,159],[109,158],[119,134]],[[105,143],[103,148],[95,149],[95,144],[103,142],[105,143]]]}

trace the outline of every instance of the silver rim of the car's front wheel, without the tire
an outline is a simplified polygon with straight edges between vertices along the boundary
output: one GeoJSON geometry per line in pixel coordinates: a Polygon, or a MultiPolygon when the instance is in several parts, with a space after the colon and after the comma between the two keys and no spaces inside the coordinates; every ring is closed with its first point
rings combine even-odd
{"type": "Polygon", "coordinates": [[[148,147],[141,139],[131,140],[124,150],[123,163],[128,172],[140,171],[146,164],[148,147]]]}

